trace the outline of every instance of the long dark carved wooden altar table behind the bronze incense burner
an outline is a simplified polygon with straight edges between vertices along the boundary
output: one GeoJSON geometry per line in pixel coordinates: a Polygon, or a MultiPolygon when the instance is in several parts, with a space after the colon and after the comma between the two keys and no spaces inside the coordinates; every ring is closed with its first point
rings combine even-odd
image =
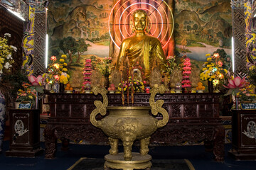
{"type": "MultiPolygon", "coordinates": [[[[44,131],[46,158],[55,157],[57,139],[84,140],[89,145],[107,145],[107,136],[90,123],[94,94],[48,94],[50,118],[44,131]]],[[[121,94],[108,94],[108,106],[122,106],[121,94]]],[[[169,123],[151,136],[150,145],[171,146],[181,142],[212,144],[216,161],[224,159],[225,130],[219,118],[220,94],[162,94],[169,123]]],[[[134,94],[134,106],[149,106],[150,94],[134,94]]],[[[158,117],[161,119],[161,117],[158,117]]],[[[100,117],[99,117],[100,119],[100,117]]]]}

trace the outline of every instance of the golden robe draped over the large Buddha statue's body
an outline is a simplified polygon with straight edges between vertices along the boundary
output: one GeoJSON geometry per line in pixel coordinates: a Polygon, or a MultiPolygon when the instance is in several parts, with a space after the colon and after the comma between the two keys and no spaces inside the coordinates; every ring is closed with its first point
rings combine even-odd
{"type": "Polygon", "coordinates": [[[164,64],[166,64],[166,57],[160,41],[148,35],[144,35],[140,39],[133,36],[123,40],[117,58],[117,69],[126,58],[129,61],[129,73],[132,72],[132,67],[139,62],[144,69],[146,79],[149,78],[153,67],[164,69],[164,64]]]}

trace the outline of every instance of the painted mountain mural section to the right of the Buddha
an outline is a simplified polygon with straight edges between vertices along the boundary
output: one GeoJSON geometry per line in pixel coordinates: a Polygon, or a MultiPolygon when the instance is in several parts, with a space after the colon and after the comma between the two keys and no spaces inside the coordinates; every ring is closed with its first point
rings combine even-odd
{"type": "Polygon", "coordinates": [[[205,61],[207,53],[223,49],[231,54],[232,16],[230,1],[175,1],[176,50],[205,61]]]}

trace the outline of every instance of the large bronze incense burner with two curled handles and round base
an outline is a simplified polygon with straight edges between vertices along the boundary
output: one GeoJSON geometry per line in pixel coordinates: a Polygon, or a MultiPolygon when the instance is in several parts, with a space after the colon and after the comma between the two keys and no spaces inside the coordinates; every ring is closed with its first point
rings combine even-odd
{"type": "Polygon", "coordinates": [[[151,97],[149,100],[150,106],[112,106],[107,107],[107,91],[105,89],[92,89],[95,94],[102,94],[103,103],[101,101],[95,101],[95,108],[90,115],[90,121],[92,125],[102,129],[103,132],[109,137],[110,141],[110,154],[105,156],[105,169],[146,169],[151,166],[151,156],[149,152],[150,136],[156,131],[157,128],[161,128],[169,120],[169,115],[161,108],[164,101],[154,102],[156,93],[164,93],[165,87],[160,86],[156,89],[151,89],[151,97]],[[96,115],[100,113],[105,115],[106,111],[109,111],[102,120],[96,120],[96,115]],[[152,115],[161,113],[163,115],[162,120],[154,118],[149,115],[151,111],[152,115]],[[122,140],[124,147],[124,153],[118,153],[118,141],[122,140]],[[132,152],[132,145],[134,140],[139,140],[140,152],[132,152]]]}

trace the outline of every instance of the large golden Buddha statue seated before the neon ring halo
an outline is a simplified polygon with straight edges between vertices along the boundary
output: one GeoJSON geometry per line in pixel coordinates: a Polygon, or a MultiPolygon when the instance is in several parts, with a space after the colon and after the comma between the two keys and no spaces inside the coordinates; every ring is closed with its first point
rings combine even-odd
{"type": "Polygon", "coordinates": [[[132,29],[135,35],[122,41],[116,68],[120,69],[122,62],[128,59],[129,74],[131,74],[132,67],[138,62],[142,66],[145,78],[149,79],[149,74],[154,67],[164,69],[166,57],[160,41],[146,35],[149,22],[146,12],[139,9],[133,13],[132,18],[132,29]]]}

